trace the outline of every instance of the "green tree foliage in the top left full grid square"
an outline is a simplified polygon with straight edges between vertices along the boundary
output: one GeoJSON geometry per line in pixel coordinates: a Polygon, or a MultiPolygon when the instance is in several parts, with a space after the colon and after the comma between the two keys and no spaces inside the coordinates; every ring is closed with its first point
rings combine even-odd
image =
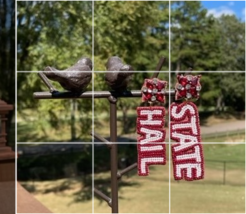
{"type": "Polygon", "coordinates": [[[17,2],[17,70],[65,69],[91,58],[91,2],[17,2]]]}

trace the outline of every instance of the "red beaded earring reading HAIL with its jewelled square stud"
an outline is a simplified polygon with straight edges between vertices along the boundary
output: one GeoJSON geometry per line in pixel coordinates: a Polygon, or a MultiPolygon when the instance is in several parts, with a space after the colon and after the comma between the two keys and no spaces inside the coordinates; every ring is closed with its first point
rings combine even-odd
{"type": "Polygon", "coordinates": [[[137,108],[138,175],[147,176],[149,165],[166,164],[165,93],[167,82],[145,79],[142,106],[137,108]]]}

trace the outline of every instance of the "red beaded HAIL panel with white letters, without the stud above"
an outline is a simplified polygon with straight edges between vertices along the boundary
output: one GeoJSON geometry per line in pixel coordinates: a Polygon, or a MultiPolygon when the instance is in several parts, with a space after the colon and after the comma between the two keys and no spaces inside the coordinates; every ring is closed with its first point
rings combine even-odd
{"type": "Polygon", "coordinates": [[[149,165],[166,164],[164,138],[165,108],[148,106],[137,108],[138,175],[147,176],[149,165]]]}

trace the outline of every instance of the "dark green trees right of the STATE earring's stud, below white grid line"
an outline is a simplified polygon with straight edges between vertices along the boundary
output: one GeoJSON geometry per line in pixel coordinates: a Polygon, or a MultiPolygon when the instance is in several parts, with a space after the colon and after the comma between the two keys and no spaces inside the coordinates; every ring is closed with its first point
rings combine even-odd
{"type": "Polygon", "coordinates": [[[245,74],[209,73],[202,75],[200,104],[214,107],[215,113],[245,110],[245,74]]]}

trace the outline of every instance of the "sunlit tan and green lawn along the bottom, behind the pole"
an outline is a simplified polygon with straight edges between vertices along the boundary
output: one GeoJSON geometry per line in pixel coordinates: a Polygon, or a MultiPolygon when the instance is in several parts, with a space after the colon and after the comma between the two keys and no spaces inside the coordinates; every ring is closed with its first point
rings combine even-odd
{"type": "MultiPolygon", "coordinates": [[[[168,148],[167,148],[168,149],[168,148]]],[[[205,178],[200,181],[171,179],[171,212],[173,213],[245,213],[245,146],[204,145],[205,178]],[[214,160],[213,162],[209,160],[214,160]],[[216,162],[215,162],[216,161],[216,162]],[[224,161],[227,161],[224,174],[224,161]],[[225,177],[224,177],[225,175],[225,177]],[[225,181],[226,185],[223,185],[225,181]]],[[[171,163],[172,164],[172,163],[171,163]]],[[[172,169],[170,169],[171,178],[172,169]]],[[[110,191],[110,173],[96,173],[95,187],[110,191]]],[[[33,194],[52,212],[91,213],[93,201],[75,197],[91,193],[81,179],[58,179],[46,182],[24,182],[34,185],[33,194]],[[68,184],[60,188],[61,183],[68,184]],[[50,189],[52,191],[45,191],[50,189]],[[78,199],[78,198],[77,198],[78,199]]],[[[90,183],[90,181],[89,181],[90,183]]],[[[109,194],[109,193],[107,193],[109,194]]],[[[110,213],[103,200],[95,197],[95,213],[110,213]]],[[[136,171],[119,182],[121,213],[169,212],[169,162],[166,166],[151,166],[150,175],[137,176],[136,171]]]]}

